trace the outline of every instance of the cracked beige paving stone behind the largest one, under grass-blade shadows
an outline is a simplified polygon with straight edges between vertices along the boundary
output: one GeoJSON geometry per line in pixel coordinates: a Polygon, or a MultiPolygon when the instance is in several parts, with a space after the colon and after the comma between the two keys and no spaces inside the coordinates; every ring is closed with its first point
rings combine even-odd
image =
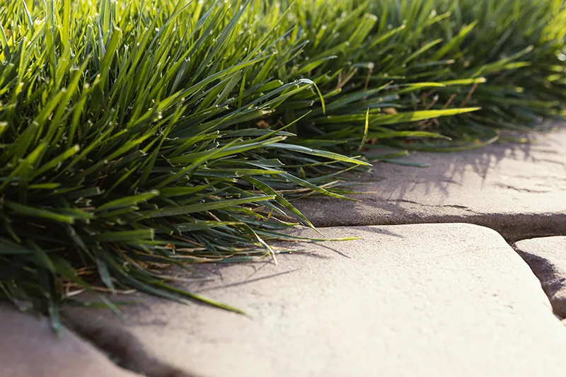
{"type": "Polygon", "coordinates": [[[316,226],[466,222],[510,241],[566,234],[566,129],[533,144],[458,153],[415,153],[428,168],[379,163],[360,176],[360,202],[301,199],[316,226]]]}

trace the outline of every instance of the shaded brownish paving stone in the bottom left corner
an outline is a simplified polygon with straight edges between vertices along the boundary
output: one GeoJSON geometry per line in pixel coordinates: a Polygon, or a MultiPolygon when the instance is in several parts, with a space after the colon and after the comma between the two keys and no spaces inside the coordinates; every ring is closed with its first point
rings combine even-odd
{"type": "MultiPolygon", "coordinates": [[[[0,377],[135,377],[45,318],[0,305],[0,377]]],[[[141,377],[141,376],[140,376],[141,377]]]]}

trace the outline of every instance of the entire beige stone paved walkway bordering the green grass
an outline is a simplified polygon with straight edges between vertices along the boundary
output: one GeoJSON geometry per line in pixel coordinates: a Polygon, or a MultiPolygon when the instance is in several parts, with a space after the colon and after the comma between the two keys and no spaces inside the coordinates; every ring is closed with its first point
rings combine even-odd
{"type": "Polygon", "coordinates": [[[360,202],[298,202],[324,236],[359,240],[183,272],[214,278],[184,288],[246,315],[142,294],[125,323],[66,308],[91,344],[0,306],[0,377],[563,374],[566,132],[417,157],[432,166],[360,177],[376,192],[360,202]]]}

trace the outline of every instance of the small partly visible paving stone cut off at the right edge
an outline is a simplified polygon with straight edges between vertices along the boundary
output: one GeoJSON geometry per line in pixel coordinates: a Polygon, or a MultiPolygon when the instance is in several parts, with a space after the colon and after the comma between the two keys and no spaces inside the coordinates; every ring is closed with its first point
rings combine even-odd
{"type": "Polygon", "coordinates": [[[566,236],[521,240],[513,248],[541,281],[555,313],[566,318],[566,236]]]}

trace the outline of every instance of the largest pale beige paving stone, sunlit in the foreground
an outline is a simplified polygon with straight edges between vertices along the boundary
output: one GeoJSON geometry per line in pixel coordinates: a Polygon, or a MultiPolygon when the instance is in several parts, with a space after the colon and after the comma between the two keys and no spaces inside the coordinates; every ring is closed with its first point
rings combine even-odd
{"type": "MultiPolygon", "coordinates": [[[[124,308],[127,330],[161,359],[206,377],[564,372],[566,329],[529,266],[495,231],[470,224],[321,231],[362,239],[296,244],[304,253],[279,255],[278,265],[202,265],[195,276],[216,280],[183,286],[246,315],[140,295],[145,303],[124,308]]],[[[108,311],[71,315],[117,323],[108,311]]]]}

